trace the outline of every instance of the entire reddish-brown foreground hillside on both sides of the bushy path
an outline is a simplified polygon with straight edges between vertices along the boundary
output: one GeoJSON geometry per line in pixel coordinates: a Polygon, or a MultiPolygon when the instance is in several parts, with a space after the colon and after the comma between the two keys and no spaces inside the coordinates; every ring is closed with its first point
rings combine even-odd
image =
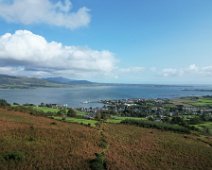
{"type": "Polygon", "coordinates": [[[210,169],[210,137],[121,124],[96,128],[0,109],[0,169],[210,169]]]}

